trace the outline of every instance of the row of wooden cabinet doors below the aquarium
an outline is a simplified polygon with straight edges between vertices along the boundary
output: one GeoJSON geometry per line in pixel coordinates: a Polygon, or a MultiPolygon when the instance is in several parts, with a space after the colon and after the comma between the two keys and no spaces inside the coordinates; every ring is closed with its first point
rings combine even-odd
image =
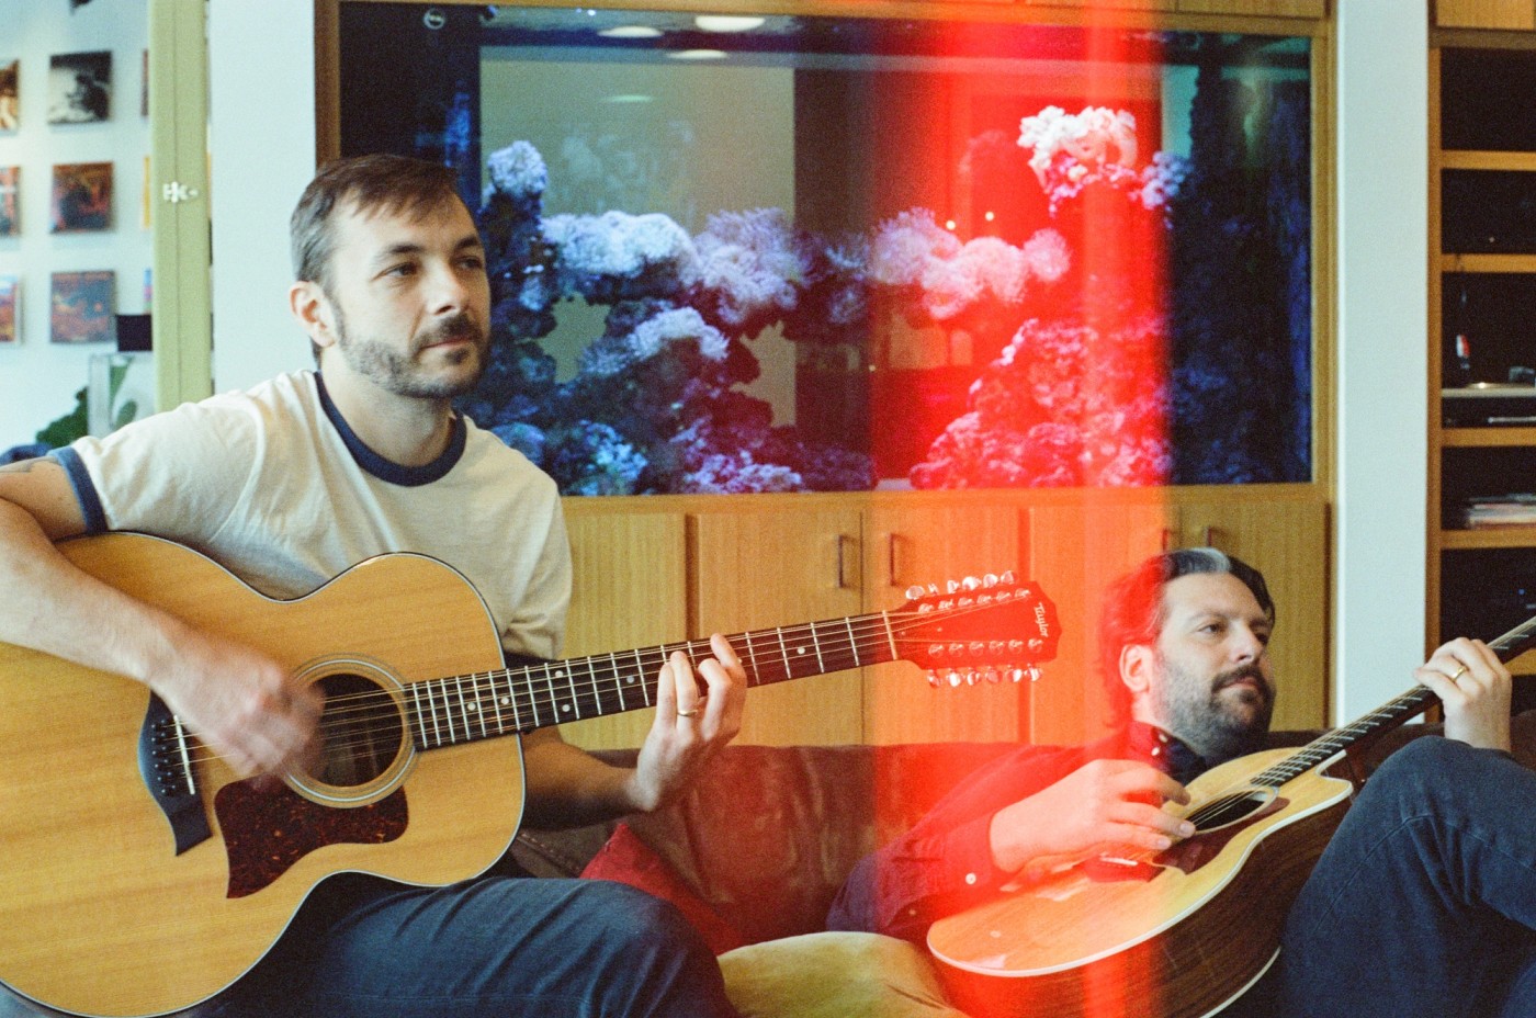
{"type": "MultiPolygon", "coordinates": [[[[1212,544],[1260,568],[1278,605],[1276,728],[1326,723],[1329,514],[1310,485],[1174,491],[876,493],[571,499],[570,654],[900,608],[908,587],[1012,571],[1055,605],[1037,682],[937,688],[909,660],[753,689],[742,742],[1071,743],[1106,731],[1104,587],[1149,554],[1212,544]]],[[[1000,634],[1001,636],[1001,634],[1000,634]]],[[[651,711],[568,725],[633,746],[651,711]]]]}

